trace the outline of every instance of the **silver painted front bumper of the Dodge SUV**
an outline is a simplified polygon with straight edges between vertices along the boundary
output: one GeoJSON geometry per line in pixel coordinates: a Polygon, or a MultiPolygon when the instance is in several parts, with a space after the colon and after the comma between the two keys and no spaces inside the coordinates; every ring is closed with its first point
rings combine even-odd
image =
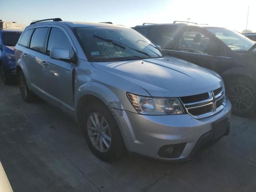
{"type": "Polygon", "coordinates": [[[213,122],[223,118],[230,120],[231,104],[226,100],[223,110],[199,120],[189,114],[147,116],[127,111],[114,114],[128,150],[161,160],[182,160],[190,157],[197,143],[196,148],[202,144],[200,138],[212,138],[208,135],[212,132],[213,122]],[[162,146],[182,143],[184,149],[178,158],[162,158],[158,155],[162,146]]]}

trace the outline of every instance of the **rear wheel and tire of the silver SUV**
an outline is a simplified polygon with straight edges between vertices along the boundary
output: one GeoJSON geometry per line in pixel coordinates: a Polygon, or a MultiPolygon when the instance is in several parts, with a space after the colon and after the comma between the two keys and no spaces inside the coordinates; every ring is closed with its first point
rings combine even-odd
{"type": "Polygon", "coordinates": [[[24,101],[28,103],[34,102],[36,95],[31,90],[29,90],[26,78],[22,71],[20,71],[18,74],[18,83],[20,87],[20,93],[24,101]]]}

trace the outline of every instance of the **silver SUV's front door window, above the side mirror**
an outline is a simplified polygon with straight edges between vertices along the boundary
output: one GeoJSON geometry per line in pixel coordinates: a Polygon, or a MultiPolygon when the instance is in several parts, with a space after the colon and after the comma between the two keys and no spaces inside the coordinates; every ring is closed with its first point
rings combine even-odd
{"type": "Polygon", "coordinates": [[[68,40],[66,34],[59,28],[53,27],[50,32],[47,45],[47,54],[50,55],[50,51],[53,47],[67,47],[72,53],[72,46],[68,40]]]}

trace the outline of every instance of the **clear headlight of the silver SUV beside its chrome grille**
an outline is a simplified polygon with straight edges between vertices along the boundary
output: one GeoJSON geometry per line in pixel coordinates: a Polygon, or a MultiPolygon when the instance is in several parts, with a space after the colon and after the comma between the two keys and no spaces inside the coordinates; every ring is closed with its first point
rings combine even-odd
{"type": "Polygon", "coordinates": [[[178,98],[153,98],[127,93],[127,96],[140,114],[175,115],[184,114],[184,108],[178,98]]]}

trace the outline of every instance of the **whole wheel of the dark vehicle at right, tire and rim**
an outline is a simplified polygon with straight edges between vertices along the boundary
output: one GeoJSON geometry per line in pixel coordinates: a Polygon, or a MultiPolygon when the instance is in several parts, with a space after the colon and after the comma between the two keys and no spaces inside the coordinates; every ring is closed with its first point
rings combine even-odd
{"type": "Polygon", "coordinates": [[[254,114],[256,107],[256,89],[249,80],[229,81],[226,94],[232,104],[232,113],[248,117],[254,114]]]}

